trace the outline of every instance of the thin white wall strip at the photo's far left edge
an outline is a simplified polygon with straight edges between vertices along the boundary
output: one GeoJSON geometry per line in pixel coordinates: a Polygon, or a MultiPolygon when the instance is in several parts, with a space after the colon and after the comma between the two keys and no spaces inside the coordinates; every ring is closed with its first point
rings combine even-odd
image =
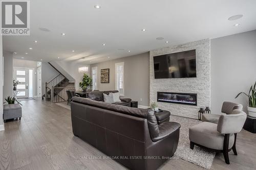
{"type": "Polygon", "coordinates": [[[0,35],[0,131],[5,130],[3,121],[3,41],[0,35]]]}

